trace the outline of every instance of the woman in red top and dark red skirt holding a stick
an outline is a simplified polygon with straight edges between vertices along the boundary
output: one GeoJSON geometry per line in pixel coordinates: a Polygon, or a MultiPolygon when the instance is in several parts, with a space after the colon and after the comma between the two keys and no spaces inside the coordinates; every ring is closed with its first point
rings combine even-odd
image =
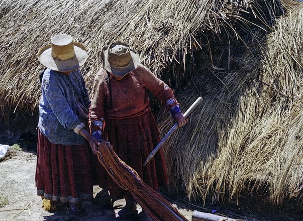
{"type": "MultiPolygon", "coordinates": [[[[168,184],[163,151],[146,165],[143,163],[160,137],[150,111],[147,90],[157,96],[172,117],[182,126],[186,123],[173,91],[163,81],[139,64],[139,54],[124,42],[114,42],[103,49],[103,68],[96,74],[89,125],[91,132],[103,132],[103,139],[112,143],[117,155],[135,169],[153,189],[168,184]],[[103,124],[105,123],[105,124],[103,124]]],[[[113,200],[124,197],[122,217],[133,215],[134,198],[108,178],[113,200]]]]}

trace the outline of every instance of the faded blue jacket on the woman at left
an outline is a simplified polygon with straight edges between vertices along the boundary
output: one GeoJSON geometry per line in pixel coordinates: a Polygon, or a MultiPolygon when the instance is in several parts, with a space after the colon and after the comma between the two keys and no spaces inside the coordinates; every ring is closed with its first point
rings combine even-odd
{"type": "Polygon", "coordinates": [[[81,71],[65,75],[46,69],[42,78],[38,127],[53,144],[81,145],[84,138],[73,129],[81,123],[77,117],[77,103],[89,107],[88,91],[81,71]]]}

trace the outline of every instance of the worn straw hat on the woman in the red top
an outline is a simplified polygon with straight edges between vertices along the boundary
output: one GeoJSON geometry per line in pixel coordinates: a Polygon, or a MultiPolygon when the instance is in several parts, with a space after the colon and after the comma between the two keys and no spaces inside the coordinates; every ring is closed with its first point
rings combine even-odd
{"type": "Polygon", "coordinates": [[[121,41],[104,47],[101,57],[104,69],[117,76],[126,75],[136,69],[139,63],[139,54],[121,41]]]}

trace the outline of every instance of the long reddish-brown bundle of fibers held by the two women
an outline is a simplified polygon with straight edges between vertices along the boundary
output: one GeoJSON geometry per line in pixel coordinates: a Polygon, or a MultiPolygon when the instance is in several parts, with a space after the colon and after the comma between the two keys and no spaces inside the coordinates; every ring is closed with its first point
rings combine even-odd
{"type": "Polygon", "coordinates": [[[98,160],[120,188],[129,191],[152,220],[187,220],[161,194],[143,182],[138,173],[123,162],[109,142],[98,146],[98,160]]]}

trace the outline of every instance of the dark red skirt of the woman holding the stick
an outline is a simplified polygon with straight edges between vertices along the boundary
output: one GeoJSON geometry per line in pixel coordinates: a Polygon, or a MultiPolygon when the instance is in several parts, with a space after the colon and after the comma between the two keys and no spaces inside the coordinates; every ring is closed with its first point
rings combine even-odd
{"type": "MultiPolygon", "coordinates": [[[[106,119],[104,139],[114,147],[114,151],[127,165],[132,167],[154,190],[168,184],[163,150],[160,149],[151,161],[143,166],[149,153],[160,142],[154,116],[147,113],[124,120],[106,119]]],[[[113,198],[122,198],[124,190],[110,178],[108,189],[113,198]]]]}

